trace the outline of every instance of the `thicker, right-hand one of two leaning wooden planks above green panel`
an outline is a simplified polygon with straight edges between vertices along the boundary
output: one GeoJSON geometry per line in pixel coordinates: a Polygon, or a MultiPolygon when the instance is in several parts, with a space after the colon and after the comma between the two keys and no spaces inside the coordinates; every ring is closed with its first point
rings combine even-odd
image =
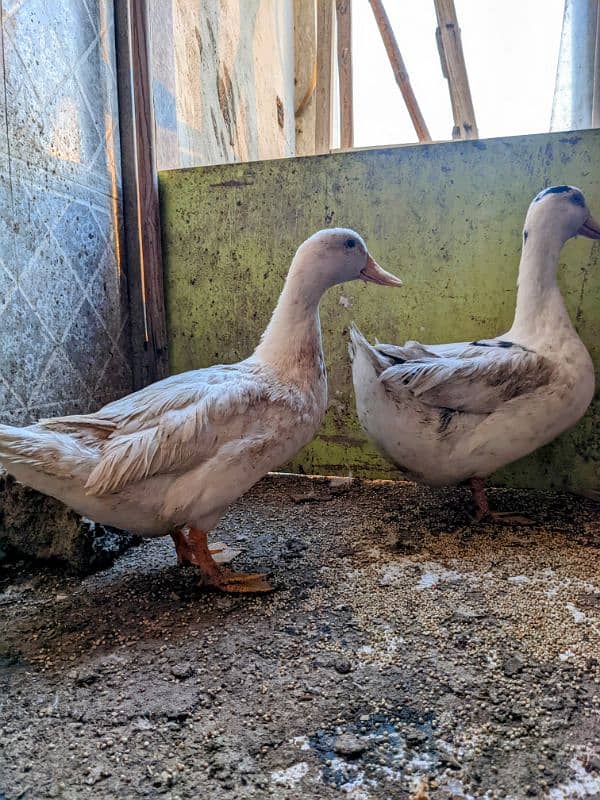
{"type": "Polygon", "coordinates": [[[454,117],[453,139],[477,139],[479,132],[471,98],[454,0],[434,0],[438,21],[436,38],[442,72],[448,81],[454,117]]]}

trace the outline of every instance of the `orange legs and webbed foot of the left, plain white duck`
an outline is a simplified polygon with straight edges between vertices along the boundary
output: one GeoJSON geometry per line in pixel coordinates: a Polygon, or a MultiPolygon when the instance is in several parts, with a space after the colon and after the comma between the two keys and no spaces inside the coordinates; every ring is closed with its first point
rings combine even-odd
{"type": "MultiPolygon", "coordinates": [[[[193,564],[202,574],[203,583],[220,589],[222,592],[271,592],[273,587],[260,573],[234,572],[225,569],[213,558],[208,546],[205,531],[189,528],[187,532],[179,529],[171,534],[180,564],[193,564]]],[[[215,554],[219,548],[215,550],[215,554]]]]}

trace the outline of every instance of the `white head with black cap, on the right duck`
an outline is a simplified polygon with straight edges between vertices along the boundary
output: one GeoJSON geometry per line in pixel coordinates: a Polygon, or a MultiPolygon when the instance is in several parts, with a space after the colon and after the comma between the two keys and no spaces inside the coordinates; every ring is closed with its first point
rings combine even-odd
{"type": "Polygon", "coordinates": [[[581,189],[576,186],[543,189],[529,206],[523,231],[525,241],[533,228],[555,232],[563,242],[573,236],[600,239],[600,224],[593,219],[581,189]]]}

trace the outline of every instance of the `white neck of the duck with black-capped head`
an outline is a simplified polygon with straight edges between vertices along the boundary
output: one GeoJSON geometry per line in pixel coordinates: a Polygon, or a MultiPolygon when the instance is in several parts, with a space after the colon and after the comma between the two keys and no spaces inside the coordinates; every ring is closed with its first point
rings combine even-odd
{"type": "Polygon", "coordinates": [[[556,280],[564,244],[560,231],[529,231],[524,235],[515,319],[510,330],[515,339],[535,339],[572,327],[556,280]]]}

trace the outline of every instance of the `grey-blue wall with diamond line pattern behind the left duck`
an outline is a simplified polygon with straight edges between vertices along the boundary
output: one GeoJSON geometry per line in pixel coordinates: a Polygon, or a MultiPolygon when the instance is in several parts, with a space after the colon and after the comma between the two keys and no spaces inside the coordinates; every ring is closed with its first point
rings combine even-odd
{"type": "Polygon", "coordinates": [[[0,0],[0,421],[131,388],[111,0],[0,0]]]}

